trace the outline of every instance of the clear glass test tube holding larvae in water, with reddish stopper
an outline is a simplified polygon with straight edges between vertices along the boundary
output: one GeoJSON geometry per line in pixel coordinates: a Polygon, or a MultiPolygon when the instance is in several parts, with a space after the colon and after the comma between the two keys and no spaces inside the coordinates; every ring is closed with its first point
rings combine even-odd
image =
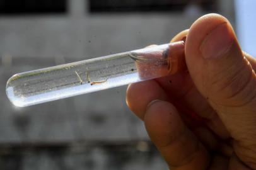
{"type": "Polygon", "coordinates": [[[184,42],[180,41],[15,74],[6,84],[6,94],[13,105],[23,107],[163,77],[183,69],[184,42]]]}

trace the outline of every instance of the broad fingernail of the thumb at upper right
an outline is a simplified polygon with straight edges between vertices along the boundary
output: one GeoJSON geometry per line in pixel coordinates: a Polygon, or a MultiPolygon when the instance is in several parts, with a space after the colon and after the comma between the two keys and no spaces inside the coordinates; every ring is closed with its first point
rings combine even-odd
{"type": "Polygon", "coordinates": [[[233,30],[229,28],[228,23],[216,26],[201,43],[202,56],[205,59],[223,57],[230,50],[233,37],[233,30]]]}

